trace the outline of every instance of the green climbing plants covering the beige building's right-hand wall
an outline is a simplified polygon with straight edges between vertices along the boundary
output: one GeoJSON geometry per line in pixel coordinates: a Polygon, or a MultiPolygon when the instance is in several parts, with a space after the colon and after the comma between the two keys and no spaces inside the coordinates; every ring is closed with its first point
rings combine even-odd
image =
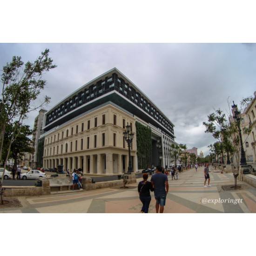
{"type": "MultiPolygon", "coordinates": [[[[137,156],[138,156],[138,168],[145,168],[148,165],[148,159],[151,155],[152,140],[151,129],[142,125],[141,123],[135,123],[136,126],[136,139],[137,139],[137,156]]],[[[149,163],[150,164],[150,163],[149,163]]]]}

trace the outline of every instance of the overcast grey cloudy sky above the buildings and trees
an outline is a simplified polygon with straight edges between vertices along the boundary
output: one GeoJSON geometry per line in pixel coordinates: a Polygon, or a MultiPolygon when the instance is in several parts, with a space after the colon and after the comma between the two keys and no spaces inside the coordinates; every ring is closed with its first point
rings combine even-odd
{"type": "MultiPolygon", "coordinates": [[[[209,154],[215,140],[203,121],[214,108],[228,108],[256,90],[255,44],[0,44],[0,68],[12,60],[34,61],[49,48],[58,67],[47,73],[46,109],[95,77],[116,67],[155,102],[175,125],[175,141],[209,154]]],[[[32,128],[38,112],[26,121],[32,128]]]]}

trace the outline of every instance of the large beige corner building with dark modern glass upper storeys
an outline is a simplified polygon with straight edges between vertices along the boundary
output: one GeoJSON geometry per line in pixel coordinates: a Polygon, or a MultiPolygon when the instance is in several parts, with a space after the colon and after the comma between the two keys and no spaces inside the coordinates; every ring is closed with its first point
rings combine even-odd
{"type": "Polygon", "coordinates": [[[84,173],[116,175],[128,170],[128,145],[123,138],[129,124],[134,133],[131,162],[137,171],[135,122],[151,128],[149,164],[170,165],[174,125],[118,69],[88,82],[50,109],[44,117],[43,166],[82,168],[84,173]],[[161,150],[156,147],[161,141],[161,150]]]}

